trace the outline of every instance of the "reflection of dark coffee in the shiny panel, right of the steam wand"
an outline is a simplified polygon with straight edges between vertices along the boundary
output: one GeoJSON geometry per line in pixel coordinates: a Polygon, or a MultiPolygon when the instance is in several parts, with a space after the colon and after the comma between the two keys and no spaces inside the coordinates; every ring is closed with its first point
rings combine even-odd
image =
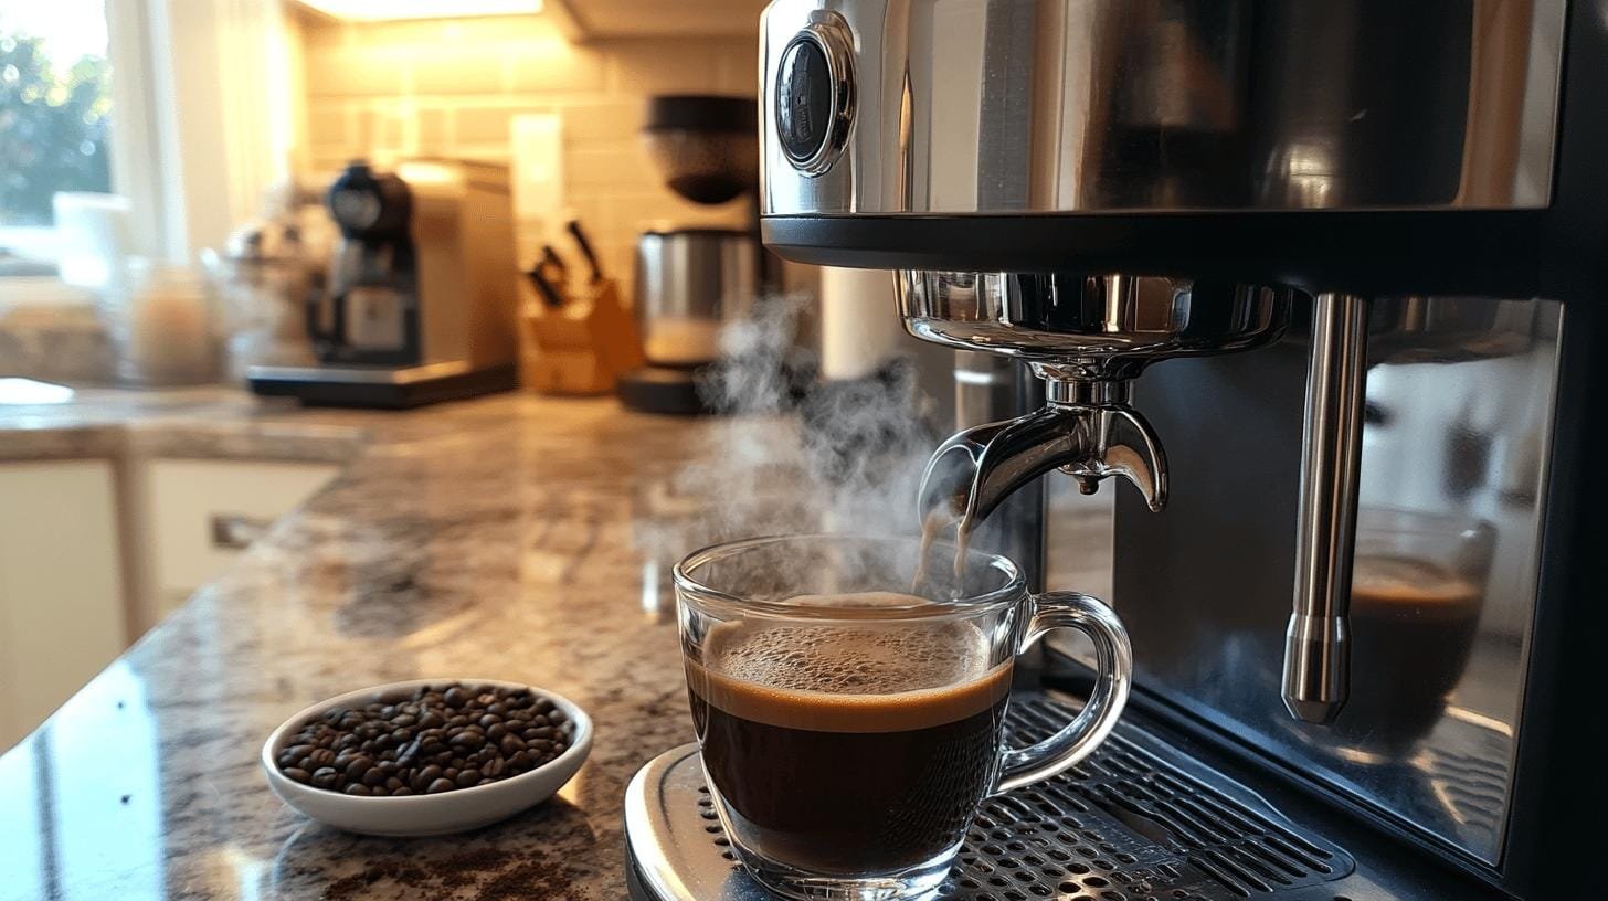
{"type": "Polygon", "coordinates": [[[1336,729],[1354,745],[1409,751],[1439,721],[1468,666],[1481,600],[1478,586],[1433,563],[1359,557],[1352,689],[1336,729]]]}

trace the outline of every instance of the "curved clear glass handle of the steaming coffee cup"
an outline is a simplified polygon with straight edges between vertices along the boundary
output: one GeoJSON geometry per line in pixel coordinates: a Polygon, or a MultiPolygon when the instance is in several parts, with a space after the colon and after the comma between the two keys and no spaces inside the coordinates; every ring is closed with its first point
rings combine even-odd
{"type": "Polygon", "coordinates": [[[1134,681],[1134,648],[1127,629],[1100,599],[1079,592],[1044,592],[1028,599],[1028,631],[1021,653],[1052,629],[1077,629],[1095,644],[1100,673],[1082,713],[1060,732],[1026,748],[1005,751],[994,793],[1010,792],[1048,779],[1093,751],[1122,714],[1134,681]]]}

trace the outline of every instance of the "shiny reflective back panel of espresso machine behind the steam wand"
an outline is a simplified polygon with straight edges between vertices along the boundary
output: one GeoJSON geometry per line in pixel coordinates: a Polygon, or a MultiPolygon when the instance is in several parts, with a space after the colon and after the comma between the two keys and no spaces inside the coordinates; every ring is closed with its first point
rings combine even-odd
{"type": "MultiPolygon", "coordinates": [[[[1362,428],[1357,505],[1481,523],[1492,536],[1479,552],[1487,568],[1460,570],[1478,579],[1483,607],[1466,639],[1466,660],[1446,655],[1447,668],[1458,669],[1447,669],[1452,689],[1433,711],[1418,705],[1407,718],[1399,705],[1375,703],[1425,681],[1420,658],[1428,653],[1415,655],[1402,644],[1372,653],[1401,637],[1401,623],[1425,627],[1431,608],[1409,605],[1401,623],[1359,621],[1356,597],[1354,703],[1330,726],[1311,726],[1291,719],[1277,700],[1280,624],[1294,578],[1290,523],[1301,473],[1293,447],[1306,413],[1304,327],[1256,354],[1167,364],[1135,383],[1135,402],[1169,442],[1190,452],[1171,460],[1179,491],[1164,513],[1116,496],[1113,599],[1134,637],[1140,685],[1386,817],[1495,862],[1523,729],[1520,674],[1536,613],[1542,462],[1552,442],[1561,306],[1428,301],[1447,311],[1465,307],[1455,322],[1491,325],[1439,333],[1370,330],[1367,401],[1378,415],[1362,428]],[[1492,356],[1491,348],[1515,352],[1492,356]],[[1224,420],[1237,426],[1225,430],[1224,420]],[[1470,442],[1468,433],[1483,438],[1470,442]],[[1257,462],[1254,492],[1245,491],[1245,478],[1222,478],[1224,471],[1243,473],[1246,460],[1257,462]],[[1155,565],[1158,549],[1167,566],[1155,565]],[[1364,656],[1368,663],[1357,663],[1364,656]]],[[[1380,302],[1373,304],[1375,323],[1380,302]]],[[[1378,544],[1368,521],[1357,529],[1359,553],[1378,544]]],[[[1052,523],[1052,541],[1058,526],[1052,523]]],[[[1460,627],[1449,624],[1442,639],[1463,640],[1452,636],[1460,627]]],[[[1439,653],[1430,640],[1418,639],[1417,647],[1439,653]]]]}

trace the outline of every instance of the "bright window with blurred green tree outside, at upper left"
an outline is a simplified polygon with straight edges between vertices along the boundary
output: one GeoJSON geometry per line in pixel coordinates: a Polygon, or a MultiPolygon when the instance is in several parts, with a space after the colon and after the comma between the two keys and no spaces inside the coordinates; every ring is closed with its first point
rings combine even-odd
{"type": "Polygon", "coordinates": [[[53,267],[51,196],[111,191],[106,0],[0,0],[0,275],[53,267]]]}

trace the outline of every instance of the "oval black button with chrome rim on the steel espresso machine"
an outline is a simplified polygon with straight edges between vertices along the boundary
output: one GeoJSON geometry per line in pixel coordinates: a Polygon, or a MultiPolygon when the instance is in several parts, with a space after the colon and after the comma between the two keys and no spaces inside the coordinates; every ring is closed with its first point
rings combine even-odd
{"type": "Polygon", "coordinates": [[[835,13],[818,16],[781,50],[772,100],[777,143],[806,175],[831,169],[854,122],[849,29],[835,13]]]}

